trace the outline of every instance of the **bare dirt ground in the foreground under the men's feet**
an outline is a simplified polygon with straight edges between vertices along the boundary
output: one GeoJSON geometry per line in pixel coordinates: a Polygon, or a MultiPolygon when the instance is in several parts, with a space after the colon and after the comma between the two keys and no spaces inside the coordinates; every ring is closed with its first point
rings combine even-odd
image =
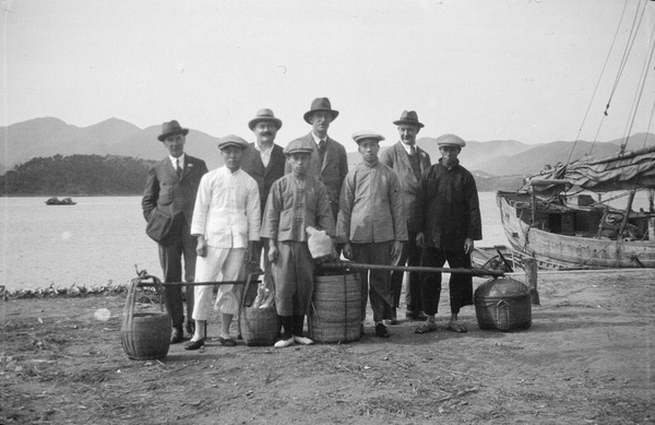
{"type": "Polygon", "coordinates": [[[468,333],[446,331],[444,290],[434,333],[404,321],[381,340],[367,322],[348,344],[214,339],[163,361],[123,352],[124,294],[0,302],[0,423],[654,424],[654,281],[540,274],[525,331],[481,331],[474,307],[468,333]]]}

